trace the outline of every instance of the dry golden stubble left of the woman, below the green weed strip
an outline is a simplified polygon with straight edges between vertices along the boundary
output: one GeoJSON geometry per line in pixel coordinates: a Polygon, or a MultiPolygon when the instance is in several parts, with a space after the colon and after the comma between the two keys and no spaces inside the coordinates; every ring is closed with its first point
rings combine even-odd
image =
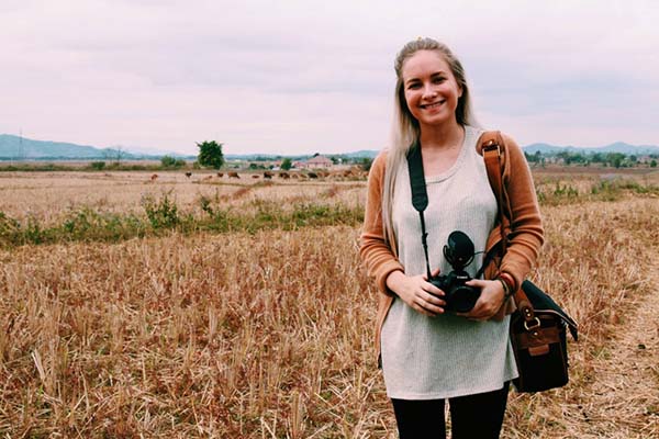
{"type": "Polygon", "coordinates": [[[356,238],[338,227],[4,254],[1,428],[381,431],[356,238]]]}

